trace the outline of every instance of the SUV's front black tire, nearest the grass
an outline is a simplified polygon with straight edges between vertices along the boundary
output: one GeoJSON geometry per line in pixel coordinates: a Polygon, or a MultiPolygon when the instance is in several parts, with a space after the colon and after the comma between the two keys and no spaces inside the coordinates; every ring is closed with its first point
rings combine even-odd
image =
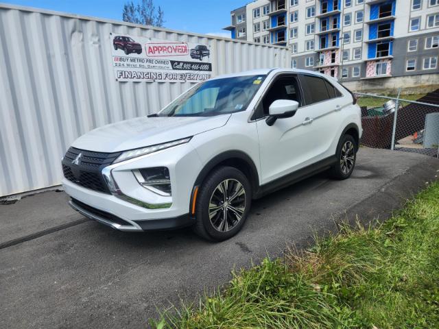
{"type": "Polygon", "coordinates": [[[233,167],[219,167],[210,173],[200,186],[195,204],[196,222],[193,230],[209,241],[230,239],[244,226],[251,202],[252,187],[246,175],[233,167]],[[222,199],[224,184],[228,185],[228,193],[230,193],[226,195],[230,195],[230,199],[234,197],[230,204],[226,197],[222,199]],[[242,192],[237,193],[241,188],[244,190],[244,195],[242,192]]]}

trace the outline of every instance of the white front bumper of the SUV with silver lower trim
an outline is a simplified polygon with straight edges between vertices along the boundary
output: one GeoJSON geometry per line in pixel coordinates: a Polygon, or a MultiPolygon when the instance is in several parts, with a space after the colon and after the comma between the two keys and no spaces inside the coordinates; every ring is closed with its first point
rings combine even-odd
{"type": "Polygon", "coordinates": [[[189,203],[201,162],[189,144],[178,145],[153,154],[112,164],[102,169],[111,178],[111,193],[93,191],[64,178],[64,190],[70,203],[82,215],[123,231],[165,230],[189,226],[189,203]],[[171,196],[158,195],[139,184],[133,170],[167,167],[171,179],[171,196]]]}

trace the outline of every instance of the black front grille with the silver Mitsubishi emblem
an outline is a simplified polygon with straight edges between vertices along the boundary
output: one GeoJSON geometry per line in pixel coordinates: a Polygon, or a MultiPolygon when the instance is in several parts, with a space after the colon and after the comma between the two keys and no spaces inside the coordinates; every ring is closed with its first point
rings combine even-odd
{"type": "Polygon", "coordinates": [[[62,159],[64,177],[82,187],[93,191],[110,194],[102,176],[102,169],[110,165],[118,156],[117,153],[99,153],[70,147],[62,159]],[[75,160],[81,154],[78,164],[75,160]]]}

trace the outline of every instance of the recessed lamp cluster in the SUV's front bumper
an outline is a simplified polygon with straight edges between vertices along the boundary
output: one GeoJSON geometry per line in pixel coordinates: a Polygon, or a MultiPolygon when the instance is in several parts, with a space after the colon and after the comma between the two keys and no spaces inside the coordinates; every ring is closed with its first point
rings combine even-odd
{"type": "Polygon", "coordinates": [[[137,169],[132,172],[144,188],[158,195],[171,195],[171,180],[169,178],[169,169],[166,167],[137,169]]]}

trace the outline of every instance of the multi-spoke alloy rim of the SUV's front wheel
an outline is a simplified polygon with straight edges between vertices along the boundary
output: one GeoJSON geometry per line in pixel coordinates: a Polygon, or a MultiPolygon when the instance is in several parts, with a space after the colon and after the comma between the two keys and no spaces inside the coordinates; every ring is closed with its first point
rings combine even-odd
{"type": "Polygon", "coordinates": [[[215,230],[232,230],[241,221],[245,210],[246,190],[238,180],[223,180],[213,190],[209,202],[209,219],[215,230]]]}

